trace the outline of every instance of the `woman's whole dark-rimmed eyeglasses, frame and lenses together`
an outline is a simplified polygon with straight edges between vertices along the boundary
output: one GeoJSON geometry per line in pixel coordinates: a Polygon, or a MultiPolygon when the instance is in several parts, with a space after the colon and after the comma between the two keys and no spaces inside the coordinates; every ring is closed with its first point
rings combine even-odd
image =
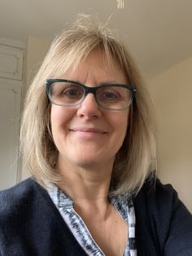
{"type": "Polygon", "coordinates": [[[50,102],[63,107],[75,107],[92,93],[98,106],[109,110],[123,110],[133,103],[136,89],[126,84],[103,84],[89,87],[66,79],[47,79],[46,94],[50,102]]]}

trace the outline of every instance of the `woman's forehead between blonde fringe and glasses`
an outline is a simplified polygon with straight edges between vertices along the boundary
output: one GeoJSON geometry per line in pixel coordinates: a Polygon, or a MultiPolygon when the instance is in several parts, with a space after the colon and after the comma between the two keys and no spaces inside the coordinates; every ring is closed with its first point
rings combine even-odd
{"type": "Polygon", "coordinates": [[[120,64],[111,56],[107,57],[103,51],[92,51],[79,64],[73,64],[63,73],[63,78],[77,82],[128,82],[128,77],[120,64]]]}

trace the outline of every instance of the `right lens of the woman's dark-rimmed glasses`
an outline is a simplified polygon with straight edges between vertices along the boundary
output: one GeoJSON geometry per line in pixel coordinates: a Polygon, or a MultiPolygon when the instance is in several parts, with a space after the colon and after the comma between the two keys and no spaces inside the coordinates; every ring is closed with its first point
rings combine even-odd
{"type": "Polygon", "coordinates": [[[97,90],[97,100],[103,108],[124,109],[132,103],[132,94],[125,87],[103,86],[97,90]]]}

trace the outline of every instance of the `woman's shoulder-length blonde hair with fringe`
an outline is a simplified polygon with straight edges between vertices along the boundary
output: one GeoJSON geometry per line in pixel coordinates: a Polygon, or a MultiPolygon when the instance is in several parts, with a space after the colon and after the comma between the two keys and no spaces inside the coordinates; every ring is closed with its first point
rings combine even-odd
{"type": "Polygon", "coordinates": [[[155,159],[151,99],[124,44],[112,35],[106,24],[100,24],[91,15],[79,15],[71,29],[55,38],[29,87],[20,132],[24,166],[43,186],[47,182],[62,183],[62,177],[55,171],[58,151],[50,131],[50,102],[45,82],[47,78],[61,77],[96,49],[104,52],[109,64],[116,60],[137,89],[129,111],[127,134],[116,154],[110,188],[113,194],[137,193],[151,174],[151,162],[155,159]]]}

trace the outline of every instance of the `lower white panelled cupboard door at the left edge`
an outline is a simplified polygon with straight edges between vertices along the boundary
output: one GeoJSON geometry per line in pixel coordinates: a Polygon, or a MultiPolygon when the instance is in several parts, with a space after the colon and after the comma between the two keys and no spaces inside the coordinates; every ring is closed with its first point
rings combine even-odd
{"type": "Polygon", "coordinates": [[[19,177],[20,81],[0,78],[0,190],[19,177]]]}

